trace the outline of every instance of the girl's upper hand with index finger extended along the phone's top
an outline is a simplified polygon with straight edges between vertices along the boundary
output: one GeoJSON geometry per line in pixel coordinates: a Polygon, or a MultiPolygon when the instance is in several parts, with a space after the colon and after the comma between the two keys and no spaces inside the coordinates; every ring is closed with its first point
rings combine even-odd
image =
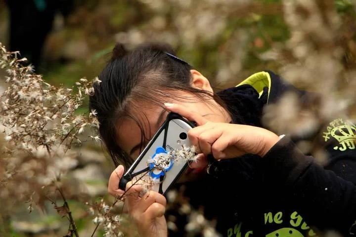
{"type": "Polygon", "coordinates": [[[279,141],[276,134],[261,127],[211,122],[181,105],[165,104],[165,106],[168,111],[178,113],[198,125],[188,132],[188,137],[192,145],[196,145],[205,156],[200,155],[196,164],[192,162],[192,168],[206,165],[206,156],[209,154],[216,159],[235,158],[245,154],[264,157],[279,141]]]}

